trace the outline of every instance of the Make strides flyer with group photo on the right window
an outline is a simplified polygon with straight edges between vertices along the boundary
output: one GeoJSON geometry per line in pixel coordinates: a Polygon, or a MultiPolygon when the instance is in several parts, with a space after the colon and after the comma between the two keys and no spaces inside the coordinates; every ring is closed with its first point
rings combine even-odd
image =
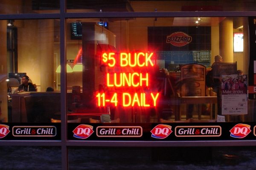
{"type": "Polygon", "coordinates": [[[247,75],[221,76],[223,115],[247,114],[247,75]]]}

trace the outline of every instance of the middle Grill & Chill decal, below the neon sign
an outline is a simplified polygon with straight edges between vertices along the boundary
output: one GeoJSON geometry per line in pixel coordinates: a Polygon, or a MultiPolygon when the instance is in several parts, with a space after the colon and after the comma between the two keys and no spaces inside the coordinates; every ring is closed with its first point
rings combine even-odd
{"type": "Polygon", "coordinates": [[[98,137],[141,137],[140,126],[98,126],[96,129],[98,137]]]}

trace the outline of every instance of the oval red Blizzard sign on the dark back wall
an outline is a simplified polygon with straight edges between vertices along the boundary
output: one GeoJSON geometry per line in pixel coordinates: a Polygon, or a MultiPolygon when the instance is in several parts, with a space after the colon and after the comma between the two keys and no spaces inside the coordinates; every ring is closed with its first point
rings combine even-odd
{"type": "Polygon", "coordinates": [[[181,47],[192,42],[192,37],[184,32],[174,32],[166,37],[166,43],[181,47]]]}

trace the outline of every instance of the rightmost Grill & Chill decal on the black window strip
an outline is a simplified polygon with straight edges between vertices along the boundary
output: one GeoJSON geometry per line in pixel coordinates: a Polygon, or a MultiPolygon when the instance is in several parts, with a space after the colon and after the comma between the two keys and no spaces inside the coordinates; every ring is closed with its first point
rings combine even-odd
{"type": "Polygon", "coordinates": [[[220,126],[176,126],[177,137],[218,137],[221,136],[220,126]]]}

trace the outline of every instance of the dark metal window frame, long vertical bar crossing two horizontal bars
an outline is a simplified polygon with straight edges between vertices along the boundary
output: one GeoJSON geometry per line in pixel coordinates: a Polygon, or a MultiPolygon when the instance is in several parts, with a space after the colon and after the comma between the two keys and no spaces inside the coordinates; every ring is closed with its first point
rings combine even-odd
{"type": "MultiPolygon", "coordinates": [[[[256,11],[177,11],[177,12],[88,12],[67,13],[66,0],[60,0],[58,14],[0,14],[0,20],[60,19],[60,61],[66,65],[66,19],[121,17],[251,17],[256,11]]],[[[0,141],[0,146],[61,146],[61,167],[68,169],[68,146],[106,147],[189,147],[189,146],[255,146],[256,140],[244,141],[72,141],[67,140],[67,75],[61,67],[61,141],[0,141]]]]}

